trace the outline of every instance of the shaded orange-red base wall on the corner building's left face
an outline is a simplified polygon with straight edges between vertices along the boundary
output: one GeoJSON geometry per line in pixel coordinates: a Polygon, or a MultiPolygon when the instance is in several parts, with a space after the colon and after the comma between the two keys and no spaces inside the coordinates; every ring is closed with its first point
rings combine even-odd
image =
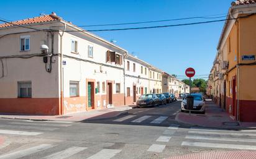
{"type": "Polygon", "coordinates": [[[12,114],[60,114],[59,98],[0,98],[0,112],[12,114]]]}

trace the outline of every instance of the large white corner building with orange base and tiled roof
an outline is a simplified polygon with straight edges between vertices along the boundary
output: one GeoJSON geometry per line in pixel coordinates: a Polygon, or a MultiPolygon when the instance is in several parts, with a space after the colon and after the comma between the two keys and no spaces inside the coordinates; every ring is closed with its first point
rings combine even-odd
{"type": "Polygon", "coordinates": [[[57,115],[124,105],[127,51],[55,13],[1,24],[0,48],[1,113],[57,115]]]}

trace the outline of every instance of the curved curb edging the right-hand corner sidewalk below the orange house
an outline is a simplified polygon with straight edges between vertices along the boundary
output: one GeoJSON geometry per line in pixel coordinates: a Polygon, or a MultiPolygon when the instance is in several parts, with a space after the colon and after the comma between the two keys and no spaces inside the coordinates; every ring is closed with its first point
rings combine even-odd
{"type": "Polygon", "coordinates": [[[183,123],[183,124],[189,124],[190,126],[197,126],[197,127],[206,127],[206,128],[213,128],[213,129],[226,129],[226,130],[235,130],[235,131],[239,131],[239,130],[256,130],[255,128],[248,128],[248,127],[218,127],[218,126],[206,126],[206,125],[198,125],[198,124],[193,124],[191,122],[185,122],[185,121],[181,121],[180,119],[178,119],[179,113],[176,114],[175,116],[175,121],[183,123]]]}

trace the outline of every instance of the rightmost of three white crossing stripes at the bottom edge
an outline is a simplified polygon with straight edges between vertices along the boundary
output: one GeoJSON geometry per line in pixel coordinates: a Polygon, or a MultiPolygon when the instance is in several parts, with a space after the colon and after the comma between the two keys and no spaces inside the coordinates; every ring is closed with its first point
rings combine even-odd
{"type": "Polygon", "coordinates": [[[115,150],[115,149],[103,149],[100,152],[92,155],[87,159],[110,159],[114,157],[117,153],[121,152],[122,150],[115,150]]]}

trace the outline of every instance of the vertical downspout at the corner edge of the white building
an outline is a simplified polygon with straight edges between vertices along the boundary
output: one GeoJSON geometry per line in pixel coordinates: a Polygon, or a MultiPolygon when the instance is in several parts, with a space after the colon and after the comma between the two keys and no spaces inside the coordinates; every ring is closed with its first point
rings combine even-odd
{"type": "MultiPolygon", "coordinates": [[[[66,30],[66,24],[63,23],[64,25],[64,30],[66,30]]],[[[62,53],[62,37],[64,32],[62,32],[62,34],[60,34],[60,32],[58,32],[58,34],[60,35],[60,114],[64,113],[63,110],[63,53],[62,53]]]]}

